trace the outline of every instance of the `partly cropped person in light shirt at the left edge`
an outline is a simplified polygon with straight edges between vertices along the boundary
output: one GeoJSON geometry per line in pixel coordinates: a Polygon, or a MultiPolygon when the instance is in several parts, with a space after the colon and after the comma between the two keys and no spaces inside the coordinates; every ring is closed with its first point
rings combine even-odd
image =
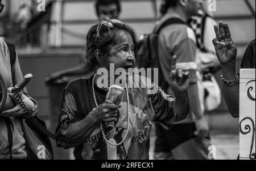
{"type": "MultiPolygon", "coordinates": [[[[2,0],[0,0],[0,12],[4,7],[1,2],[2,0]]],[[[10,62],[10,58],[10,50],[6,42],[0,40],[0,75],[5,82],[6,88],[14,87],[23,79],[18,55],[15,53],[13,64],[10,62]]],[[[21,98],[28,110],[34,111],[32,113],[35,114],[38,105],[34,99],[27,95],[26,88],[23,89],[21,98]]],[[[27,117],[27,112],[15,100],[13,93],[8,93],[5,106],[0,111],[0,159],[27,159],[26,141],[23,138],[21,126],[23,118],[27,117]],[[11,109],[7,107],[5,109],[5,106],[11,106],[11,109]],[[10,129],[7,123],[11,126],[10,129]]]]}

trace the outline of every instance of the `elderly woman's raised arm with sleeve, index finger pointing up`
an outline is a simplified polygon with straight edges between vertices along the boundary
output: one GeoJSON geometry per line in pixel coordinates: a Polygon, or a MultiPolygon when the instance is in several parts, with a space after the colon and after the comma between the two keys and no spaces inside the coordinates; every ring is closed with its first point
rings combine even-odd
{"type": "Polygon", "coordinates": [[[168,80],[176,99],[167,95],[160,87],[152,93],[151,102],[155,110],[155,121],[166,129],[182,121],[189,113],[188,87],[189,72],[176,69],[176,56],[172,58],[171,74],[168,80]]]}

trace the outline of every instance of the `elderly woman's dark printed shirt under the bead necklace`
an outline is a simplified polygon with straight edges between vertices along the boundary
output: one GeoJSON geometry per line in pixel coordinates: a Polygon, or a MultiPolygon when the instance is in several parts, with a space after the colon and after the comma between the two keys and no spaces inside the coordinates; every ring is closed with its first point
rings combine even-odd
{"type": "MultiPolygon", "coordinates": [[[[148,82],[137,76],[129,76],[128,85],[131,87],[130,80],[139,78],[138,84],[145,85],[145,88],[128,88],[130,99],[130,130],[125,142],[121,146],[106,144],[102,138],[100,125],[92,132],[84,144],[75,147],[74,155],[76,159],[148,159],[150,148],[150,131],[153,122],[161,122],[170,127],[176,118],[173,110],[175,99],[167,95],[156,84],[156,91],[152,93],[146,86],[148,82]]],[[[65,89],[63,102],[60,110],[59,123],[56,129],[57,134],[67,135],[67,130],[72,123],[84,119],[94,108],[96,104],[92,93],[92,78],[75,80],[65,89]]],[[[98,88],[95,84],[96,99],[98,105],[105,102],[106,91],[98,88]]],[[[142,86],[141,86],[142,87],[142,86]]],[[[127,131],[127,97],[123,96],[116,122],[104,124],[105,135],[107,139],[114,139],[119,143],[127,131]]],[[[57,142],[61,146],[60,142],[57,142]]]]}

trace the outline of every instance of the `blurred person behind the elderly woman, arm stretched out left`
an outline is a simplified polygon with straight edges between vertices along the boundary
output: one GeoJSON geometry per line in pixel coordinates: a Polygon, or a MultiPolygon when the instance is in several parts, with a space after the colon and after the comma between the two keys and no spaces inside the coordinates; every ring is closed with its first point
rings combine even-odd
{"type": "MultiPolygon", "coordinates": [[[[95,3],[95,10],[98,20],[100,20],[100,16],[106,15],[110,19],[118,19],[121,13],[121,4],[119,0],[97,0],[95,3]]],[[[63,76],[76,76],[76,75],[91,75],[93,74],[92,64],[84,59],[84,62],[71,69],[62,70],[51,74],[46,78],[46,82],[50,83],[55,81],[56,79],[62,78],[63,76]]]]}

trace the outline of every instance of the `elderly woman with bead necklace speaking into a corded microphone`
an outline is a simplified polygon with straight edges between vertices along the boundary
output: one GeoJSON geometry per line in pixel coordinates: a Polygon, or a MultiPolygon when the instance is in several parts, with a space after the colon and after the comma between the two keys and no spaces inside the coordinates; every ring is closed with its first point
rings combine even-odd
{"type": "Polygon", "coordinates": [[[76,159],[148,159],[152,123],[168,128],[187,116],[189,72],[176,70],[175,61],[170,85],[176,99],[155,83],[146,83],[142,76],[126,74],[127,82],[121,84],[125,89],[121,103],[106,101],[108,88],[101,88],[102,77],[112,86],[110,78],[119,75],[111,75],[111,70],[133,69],[134,46],[133,31],[118,20],[104,19],[90,28],[86,51],[98,72],[90,79],[73,81],[65,89],[56,129],[65,138],[86,138],[80,144],[57,141],[65,149],[75,147],[76,159]],[[102,69],[108,71],[106,77],[102,69]],[[134,84],[137,88],[133,88],[134,84]]]}

